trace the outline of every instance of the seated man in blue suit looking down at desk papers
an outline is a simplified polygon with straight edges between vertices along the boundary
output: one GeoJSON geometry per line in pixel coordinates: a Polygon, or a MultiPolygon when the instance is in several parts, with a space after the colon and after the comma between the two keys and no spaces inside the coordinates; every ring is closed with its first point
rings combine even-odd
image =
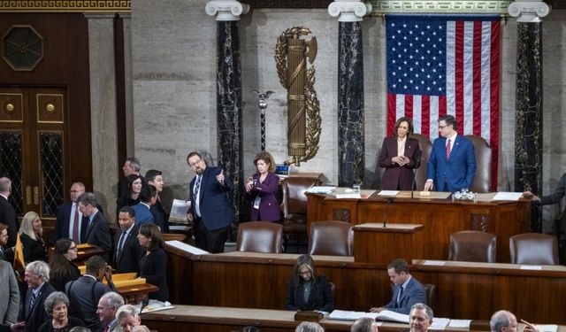
{"type": "Polygon", "coordinates": [[[371,308],[371,313],[390,310],[395,313],[409,314],[412,305],[426,303],[423,284],[410,275],[409,264],[405,259],[394,259],[389,263],[387,274],[394,283],[393,298],[385,306],[371,308]]]}

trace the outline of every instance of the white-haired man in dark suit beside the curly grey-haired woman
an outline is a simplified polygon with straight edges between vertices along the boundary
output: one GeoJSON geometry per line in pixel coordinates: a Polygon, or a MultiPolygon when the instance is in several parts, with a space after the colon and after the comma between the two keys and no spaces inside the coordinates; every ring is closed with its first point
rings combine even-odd
{"type": "Polygon", "coordinates": [[[26,321],[28,332],[36,332],[44,321],[50,320],[49,313],[45,313],[43,308],[45,299],[55,291],[49,284],[50,266],[41,260],[27,264],[24,280],[27,282],[27,295],[20,320],[26,321]]]}

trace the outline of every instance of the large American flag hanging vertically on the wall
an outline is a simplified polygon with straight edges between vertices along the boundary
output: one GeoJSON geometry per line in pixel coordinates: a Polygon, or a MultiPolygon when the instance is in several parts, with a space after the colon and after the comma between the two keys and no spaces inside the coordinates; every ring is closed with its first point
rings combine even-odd
{"type": "Polygon", "coordinates": [[[438,119],[458,121],[459,135],[492,147],[497,186],[500,109],[500,18],[493,15],[386,15],[387,135],[395,120],[413,120],[434,140],[438,119]]]}

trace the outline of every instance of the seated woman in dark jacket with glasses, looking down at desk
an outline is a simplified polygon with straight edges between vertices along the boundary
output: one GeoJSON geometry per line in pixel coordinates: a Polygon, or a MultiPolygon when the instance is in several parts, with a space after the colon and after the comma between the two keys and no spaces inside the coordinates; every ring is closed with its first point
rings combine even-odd
{"type": "Polygon", "coordinates": [[[330,282],[317,274],[315,262],[310,255],[301,255],[294,265],[294,273],[287,290],[287,310],[330,313],[334,310],[334,297],[330,282]]]}

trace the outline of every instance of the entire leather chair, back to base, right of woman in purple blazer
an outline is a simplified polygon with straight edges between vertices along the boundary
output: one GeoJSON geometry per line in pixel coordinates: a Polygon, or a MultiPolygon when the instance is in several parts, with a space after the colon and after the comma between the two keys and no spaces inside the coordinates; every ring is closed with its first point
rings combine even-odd
{"type": "MultiPolygon", "coordinates": [[[[304,193],[321,181],[314,177],[289,176],[283,179],[283,238],[287,247],[307,243],[307,197],[304,193]]],[[[303,251],[304,252],[304,251],[303,251]]]]}

